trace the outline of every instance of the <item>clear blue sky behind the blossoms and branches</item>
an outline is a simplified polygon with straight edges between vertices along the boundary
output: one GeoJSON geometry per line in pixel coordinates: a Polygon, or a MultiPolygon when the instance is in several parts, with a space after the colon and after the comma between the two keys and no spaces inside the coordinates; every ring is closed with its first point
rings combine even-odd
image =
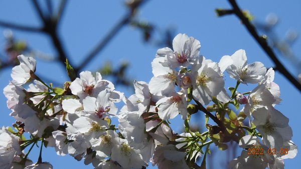
{"type": "MultiPolygon", "coordinates": [[[[265,17],[270,13],[277,14],[281,22],[276,27],[276,32],[280,37],[283,37],[288,29],[294,29],[301,33],[301,11],[299,10],[301,1],[239,1],[239,5],[242,9],[249,10],[257,21],[264,21],[265,17]]],[[[224,55],[231,55],[238,49],[245,49],[249,63],[260,61],[266,67],[274,66],[235,16],[216,17],[215,8],[229,7],[226,0],[150,0],[138,11],[137,17],[155,24],[161,31],[167,28],[174,28],[175,35],[186,33],[195,37],[201,42],[200,54],[213,61],[218,62],[224,55]]],[[[123,5],[123,1],[68,2],[59,28],[59,34],[69,59],[75,64],[79,64],[83,56],[106,35],[124,14],[126,14],[126,8],[123,5]]],[[[30,1],[1,1],[0,20],[23,25],[41,25],[41,21],[37,17],[30,1]]],[[[2,33],[3,31],[4,28],[1,27],[0,32],[2,33]]],[[[17,30],[14,33],[18,39],[26,40],[31,48],[53,55],[56,54],[49,37],[44,34],[17,30]]],[[[160,38],[159,34],[157,34],[156,38],[160,38]]],[[[4,48],[4,45],[4,37],[0,36],[0,47],[4,48]]],[[[299,55],[301,55],[300,46],[300,40],[297,40],[292,46],[293,51],[299,55]]],[[[126,26],[84,70],[95,71],[107,60],[113,62],[114,65],[126,60],[130,63],[128,75],[138,81],[148,82],[153,75],[150,62],[153,60],[157,50],[158,47],[143,42],[140,31],[126,26]]],[[[1,50],[1,53],[4,54],[3,50],[1,50]]],[[[295,69],[289,62],[284,59],[281,59],[281,61],[296,75],[295,69]]],[[[67,80],[65,70],[57,63],[48,63],[38,59],[37,72],[47,75],[49,79],[54,79],[62,84],[67,80]]],[[[11,80],[10,73],[11,68],[0,72],[1,90],[11,80]]],[[[230,85],[229,82],[234,85],[230,78],[227,78],[226,81],[226,85],[230,85]]],[[[301,145],[301,135],[298,131],[299,120],[301,119],[299,109],[301,93],[278,72],[275,74],[274,81],[280,86],[281,98],[283,99],[281,105],[277,105],[276,108],[290,119],[289,125],[293,130],[292,140],[297,145],[301,145]]],[[[125,88],[117,89],[126,91],[126,96],[132,94],[129,93],[130,90],[125,88]]],[[[14,119],[9,116],[10,110],[6,106],[6,98],[3,94],[0,94],[0,107],[2,110],[0,125],[11,125],[14,119]]],[[[50,161],[54,168],[79,169],[85,167],[83,161],[78,162],[69,155],[64,157],[57,156],[53,148],[48,149],[43,152],[43,160],[50,161]]],[[[240,152],[240,149],[238,151],[240,152]]],[[[36,161],[38,155],[31,155],[30,157],[36,161]]],[[[220,155],[219,158],[223,159],[224,156],[220,155]]],[[[298,159],[300,159],[299,155],[294,159],[286,159],[285,168],[300,166],[301,162],[298,159]]],[[[218,168],[218,166],[216,167],[218,168]]],[[[87,168],[92,168],[92,166],[87,166],[87,168]]]]}

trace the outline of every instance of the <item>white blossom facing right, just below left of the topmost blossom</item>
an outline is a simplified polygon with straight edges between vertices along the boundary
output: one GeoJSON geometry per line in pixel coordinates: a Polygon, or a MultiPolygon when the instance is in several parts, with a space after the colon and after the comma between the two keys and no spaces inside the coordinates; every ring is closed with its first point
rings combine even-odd
{"type": "Polygon", "coordinates": [[[158,96],[167,96],[175,90],[177,72],[165,62],[165,58],[158,57],[152,62],[154,77],[149,81],[150,93],[158,96]]]}

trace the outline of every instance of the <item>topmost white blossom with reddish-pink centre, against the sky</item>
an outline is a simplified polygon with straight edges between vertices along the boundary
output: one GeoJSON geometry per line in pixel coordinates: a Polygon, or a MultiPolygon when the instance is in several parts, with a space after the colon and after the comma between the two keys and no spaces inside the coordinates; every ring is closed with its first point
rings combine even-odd
{"type": "Polygon", "coordinates": [[[173,69],[187,67],[199,56],[200,48],[200,41],[186,34],[178,34],[173,40],[174,51],[170,48],[159,49],[157,57],[167,57],[167,62],[173,69]]]}

